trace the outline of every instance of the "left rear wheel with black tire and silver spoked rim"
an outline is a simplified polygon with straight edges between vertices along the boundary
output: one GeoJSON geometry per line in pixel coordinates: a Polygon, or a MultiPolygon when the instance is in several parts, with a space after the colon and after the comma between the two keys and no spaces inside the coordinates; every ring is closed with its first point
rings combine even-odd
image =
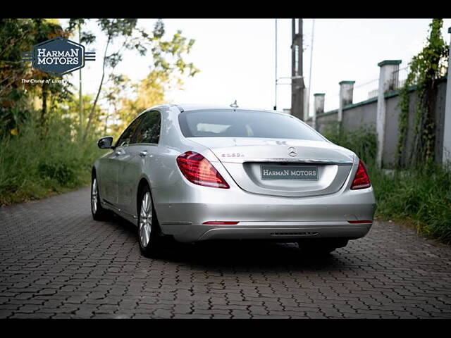
{"type": "Polygon", "coordinates": [[[163,234],[161,233],[160,225],[158,219],[156,218],[154,203],[152,199],[152,193],[150,192],[150,188],[148,185],[144,186],[141,190],[140,194],[138,194],[138,203],[137,203],[137,215],[138,215],[138,227],[137,227],[137,237],[138,243],[140,244],[140,251],[142,256],[148,258],[156,258],[161,253],[161,247],[163,244],[163,234]],[[142,205],[144,203],[144,196],[148,194],[149,199],[149,208],[147,210],[147,217],[145,214],[145,206],[144,209],[142,205]],[[151,210],[152,208],[152,210],[151,210]],[[149,222],[149,215],[152,215],[149,222]],[[144,220],[145,219],[145,220],[144,220]],[[150,231],[146,232],[143,227],[144,224],[147,226],[150,225],[150,231]],[[144,231],[144,232],[143,232],[144,231]],[[145,234],[144,234],[145,233],[145,234]],[[144,235],[148,239],[147,241],[144,239],[144,235]],[[147,244],[146,244],[147,242],[147,244]]]}

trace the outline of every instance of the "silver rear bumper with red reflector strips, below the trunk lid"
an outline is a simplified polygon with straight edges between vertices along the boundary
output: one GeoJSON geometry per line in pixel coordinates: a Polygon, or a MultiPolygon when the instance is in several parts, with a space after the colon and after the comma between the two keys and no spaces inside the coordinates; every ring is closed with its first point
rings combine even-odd
{"type": "MultiPolygon", "coordinates": [[[[278,239],[364,237],[376,211],[372,187],[312,197],[252,194],[240,188],[216,189],[189,182],[152,189],[156,215],[163,234],[180,242],[209,239],[278,239]],[[237,225],[205,225],[211,221],[237,225]],[[285,234],[284,234],[285,233],[285,234]]],[[[346,186],[346,184],[345,184],[346,186]]]]}

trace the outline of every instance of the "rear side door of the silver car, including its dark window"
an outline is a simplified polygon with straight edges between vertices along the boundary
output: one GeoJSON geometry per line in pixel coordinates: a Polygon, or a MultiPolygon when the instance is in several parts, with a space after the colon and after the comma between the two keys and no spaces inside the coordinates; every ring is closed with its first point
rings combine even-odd
{"type": "Polygon", "coordinates": [[[128,158],[121,163],[118,175],[118,205],[128,215],[137,214],[137,185],[144,168],[149,168],[149,162],[153,161],[155,149],[159,144],[160,129],[159,111],[144,113],[144,119],[128,146],[128,158]]]}

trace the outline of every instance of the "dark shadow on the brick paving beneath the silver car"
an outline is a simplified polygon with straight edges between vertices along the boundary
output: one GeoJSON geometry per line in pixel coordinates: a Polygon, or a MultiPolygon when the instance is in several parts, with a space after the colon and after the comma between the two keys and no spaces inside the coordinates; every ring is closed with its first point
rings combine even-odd
{"type": "MultiPolygon", "coordinates": [[[[110,225],[118,230],[130,232],[136,236],[136,227],[121,217],[114,215],[108,220],[110,225]]],[[[137,241],[137,237],[136,237],[137,241]]],[[[140,254],[139,244],[136,242],[137,253],[140,254]]],[[[228,240],[205,241],[194,244],[183,244],[167,238],[163,249],[149,260],[164,261],[190,265],[199,270],[245,270],[262,272],[267,270],[338,270],[347,264],[347,260],[340,258],[341,249],[318,255],[306,253],[295,243],[278,243],[266,241],[228,240]]]]}

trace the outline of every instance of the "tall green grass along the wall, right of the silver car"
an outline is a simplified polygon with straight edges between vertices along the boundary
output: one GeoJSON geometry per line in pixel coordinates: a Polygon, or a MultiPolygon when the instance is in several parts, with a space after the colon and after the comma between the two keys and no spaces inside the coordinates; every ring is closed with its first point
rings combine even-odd
{"type": "Polygon", "coordinates": [[[331,142],[354,151],[366,163],[376,196],[376,217],[416,227],[421,234],[451,244],[451,168],[429,163],[386,173],[375,164],[376,132],[372,128],[325,132],[331,142]]]}

